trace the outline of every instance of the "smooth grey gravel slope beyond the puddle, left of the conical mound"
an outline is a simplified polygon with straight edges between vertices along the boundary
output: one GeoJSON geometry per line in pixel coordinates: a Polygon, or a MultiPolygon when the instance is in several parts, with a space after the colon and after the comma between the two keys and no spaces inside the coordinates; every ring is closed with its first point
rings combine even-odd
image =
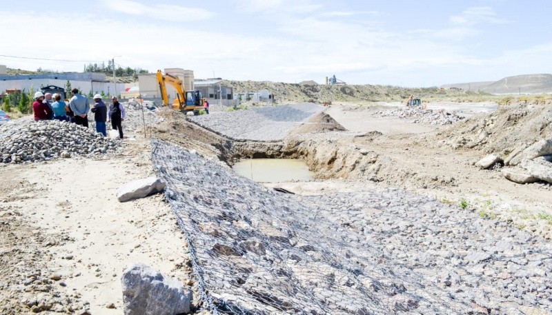
{"type": "Polygon", "coordinates": [[[324,110],[313,103],[277,105],[233,112],[190,116],[203,128],[235,140],[281,141],[313,114],[324,110]]]}

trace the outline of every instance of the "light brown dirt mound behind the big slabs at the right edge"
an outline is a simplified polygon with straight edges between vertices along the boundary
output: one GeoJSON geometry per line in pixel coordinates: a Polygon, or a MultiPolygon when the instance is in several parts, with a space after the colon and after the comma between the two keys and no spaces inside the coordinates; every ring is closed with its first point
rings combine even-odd
{"type": "Polygon", "coordinates": [[[543,105],[508,105],[488,116],[457,123],[437,134],[437,145],[509,154],[522,143],[552,138],[552,108],[543,105]]]}

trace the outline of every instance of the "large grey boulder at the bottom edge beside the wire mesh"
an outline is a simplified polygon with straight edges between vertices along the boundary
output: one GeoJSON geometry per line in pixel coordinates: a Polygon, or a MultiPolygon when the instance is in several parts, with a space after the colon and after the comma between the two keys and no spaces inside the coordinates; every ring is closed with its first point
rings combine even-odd
{"type": "Polygon", "coordinates": [[[128,267],[121,278],[125,315],[175,315],[190,312],[192,291],[144,264],[128,267]]]}

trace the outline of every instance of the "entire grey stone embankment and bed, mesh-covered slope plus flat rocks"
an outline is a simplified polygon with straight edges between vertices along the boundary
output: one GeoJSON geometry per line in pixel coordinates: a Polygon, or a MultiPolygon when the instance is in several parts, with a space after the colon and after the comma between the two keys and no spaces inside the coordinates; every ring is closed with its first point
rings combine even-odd
{"type": "Polygon", "coordinates": [[[152,160],[213,314],[552,311],[552,246],[401,190],[281,194],[163,141],[152,160]]]}

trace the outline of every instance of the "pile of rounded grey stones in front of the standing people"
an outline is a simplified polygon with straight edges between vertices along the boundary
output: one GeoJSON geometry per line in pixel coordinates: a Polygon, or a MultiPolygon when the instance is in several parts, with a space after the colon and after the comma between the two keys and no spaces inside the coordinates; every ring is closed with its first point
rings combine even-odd
{"type": "Polygon", "coordinates": [[[0,128],[0,162],[32,163],[74,154],[104,154],[119,148],[119,141],[66,121],[33,121],[30,117],[0,128]]]}

